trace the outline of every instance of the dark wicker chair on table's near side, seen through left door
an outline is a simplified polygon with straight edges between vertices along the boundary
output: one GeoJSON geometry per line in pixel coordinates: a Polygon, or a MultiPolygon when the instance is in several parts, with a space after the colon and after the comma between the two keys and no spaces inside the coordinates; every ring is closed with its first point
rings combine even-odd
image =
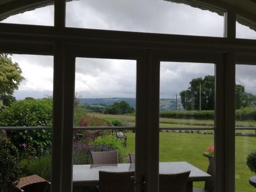
{"type": "Polygon", "coordinates": [[[133,172],[103,172],[99,171],[100,192],[133,192],[133,172]]]}

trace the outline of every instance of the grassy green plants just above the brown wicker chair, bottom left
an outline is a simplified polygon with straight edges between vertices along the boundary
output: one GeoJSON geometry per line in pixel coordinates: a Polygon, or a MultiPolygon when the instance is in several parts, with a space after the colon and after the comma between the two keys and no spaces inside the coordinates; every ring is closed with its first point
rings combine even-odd
{"type": "Polygon", "coordinates": [[[35,159],[23,159],[21,163],[22,177],[38,175],[48,181],[51,176],[51,155],[35,159]]]}

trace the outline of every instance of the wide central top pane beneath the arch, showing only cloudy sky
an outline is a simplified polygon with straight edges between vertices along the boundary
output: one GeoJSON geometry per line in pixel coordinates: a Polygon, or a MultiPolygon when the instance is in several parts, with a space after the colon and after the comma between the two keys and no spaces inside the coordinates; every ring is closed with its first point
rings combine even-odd
{"type": "Polygon", "coordinates": [[[154,0],[71,1],[66,3],[66,26],[223,37],[223,12],[198,4],[184,3],[184,1],[175,2],[154,0]]]}

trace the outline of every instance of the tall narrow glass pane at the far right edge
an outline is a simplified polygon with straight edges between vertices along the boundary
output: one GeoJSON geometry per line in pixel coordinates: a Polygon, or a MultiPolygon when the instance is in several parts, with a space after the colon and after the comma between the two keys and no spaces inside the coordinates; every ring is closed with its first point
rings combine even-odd
{"type": "MultiPolygon", "coordinates": [[[[247,158],[256,145],[256,66],[236,66],[236,191],[254,191],[247,158]],[[255,130],[254,130],[255,129],[255,130]]],[[[251,158],[251,156],[250,156],[251,158]]],[[[249,162],[255,162],[252,159],[249,162]]]]}

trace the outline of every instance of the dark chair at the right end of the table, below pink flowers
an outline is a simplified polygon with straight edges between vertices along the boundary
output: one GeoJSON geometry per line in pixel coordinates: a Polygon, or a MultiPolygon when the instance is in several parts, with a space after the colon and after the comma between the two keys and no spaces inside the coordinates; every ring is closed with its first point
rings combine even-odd
{"type": "Polygon", "coordinates": [[[193,192],[213,192],[215,183],[215,162],[214,156],[209,158],[209,165],[207,169],[207,174],[211,175],[209,181],[205,181],[204,188],[193,188],[193,192]]]}

